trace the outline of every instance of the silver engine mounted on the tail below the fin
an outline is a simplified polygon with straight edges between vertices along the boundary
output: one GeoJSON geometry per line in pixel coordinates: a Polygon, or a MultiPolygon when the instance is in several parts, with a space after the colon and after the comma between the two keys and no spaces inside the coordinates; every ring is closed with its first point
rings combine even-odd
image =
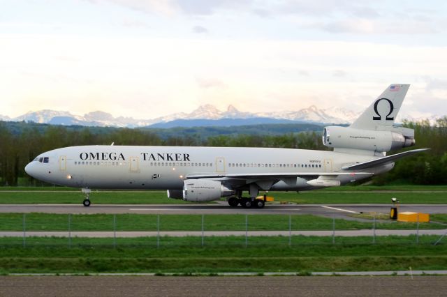
{"type": "Polygon", "coordinates": [[[389,127],[388,131],[330,126],[323,130],[323,144],[331,148],[351,148],[383,153],[413,146],[414,130],[389,127]]]}

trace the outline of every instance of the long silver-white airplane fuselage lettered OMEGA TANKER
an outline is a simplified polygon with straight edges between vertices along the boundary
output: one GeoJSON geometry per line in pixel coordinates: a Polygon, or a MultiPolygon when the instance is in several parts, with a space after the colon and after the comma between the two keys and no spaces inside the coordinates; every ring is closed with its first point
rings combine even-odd
{"type": "MultiPolygon", "coordinates": [[[[75,188],[182,190],[191,175],[295,174],[346,172],[343,166],[371,160],[371,155],[291,148],[187,146],[72,146],[39,155],[27,172],[47,183],[75,188]],[[38,162],[47,158],[47,162],[38,162]]],[[[379,174],[393,163],[367,172],[379,174]]],[[[361,172],[361,171],[356,171],[361,172]]],[[[364,175],[366,178],[371,175],[364,175]]],[[[342,183],[360,176],[338,176],[342,183]]],[[[270,190],[311,190],[301,177],[278,181],[270,190]]]]}

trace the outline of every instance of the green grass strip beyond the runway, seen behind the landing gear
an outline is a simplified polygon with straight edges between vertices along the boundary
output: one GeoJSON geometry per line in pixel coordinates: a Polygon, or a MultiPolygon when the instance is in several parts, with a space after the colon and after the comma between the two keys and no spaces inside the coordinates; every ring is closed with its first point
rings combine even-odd
{"type": "MultiPolygon", "coordinates": [[[[401,204],[447,204],[447,186],[393,185],[344,186],[308,192],[269,192],[276,201],[298,204],[389,204],[397,197],[401,204]]],[[[93,204],[190,204],[168,199],[166,191],[93,191],[93,204]]],[[[61,187],[3,187],[0,204],[81,204],[80,190],[61,187]]],[[[213,202],[210,202],[213,203],[213,202]]]]}

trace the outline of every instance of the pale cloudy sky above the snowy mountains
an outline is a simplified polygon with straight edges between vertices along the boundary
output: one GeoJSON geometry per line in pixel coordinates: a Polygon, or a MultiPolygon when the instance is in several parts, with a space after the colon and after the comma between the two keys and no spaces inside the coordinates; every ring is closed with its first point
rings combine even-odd
{"type": "Polygon", "coordinates": [[[365,109],[447,114],[447,2],[0,0],[0,115],[54,109],[154,119],[365,109]]]}

